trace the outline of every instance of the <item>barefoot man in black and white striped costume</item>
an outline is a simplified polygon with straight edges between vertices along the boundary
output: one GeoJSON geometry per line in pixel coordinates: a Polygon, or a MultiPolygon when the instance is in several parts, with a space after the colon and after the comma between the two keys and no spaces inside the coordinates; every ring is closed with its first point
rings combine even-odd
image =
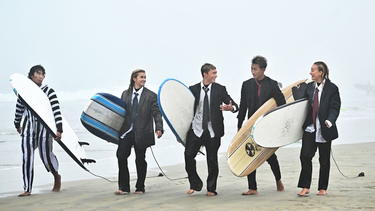
{"type": "MultiPolygon", "coordinates": [[[[60,105],[57,100],[55,91],[48,86],[42,86],[45,77],[45,69],[41,65],[33,66],[28,73],[30,78],[42,91],[48,96],[51,102],[52,111],[54,112],[57,137],[56,141],[60,141],[61,133],[63,132],[62,117],[60,113],[60,105]]],[[[54,176],[54,187],[52,191],[60,191],[61,176],[58,174],[58,162],[56,156],[52,152],[52,136],[46,131],[42,124],[34,117],[31,112],[23,105],[20,99],[17,99],[15,112],[15,127],[22,137],[22,172],[24,179],[24,193],[18,196],[31,195],[31,187],[34,177],[34,150],[39,148],[39,155],[43,161],[44,166],[48,172],[54,176]],[[21,121],[24,116],[24,121],[21,127],[21,121]]]]}

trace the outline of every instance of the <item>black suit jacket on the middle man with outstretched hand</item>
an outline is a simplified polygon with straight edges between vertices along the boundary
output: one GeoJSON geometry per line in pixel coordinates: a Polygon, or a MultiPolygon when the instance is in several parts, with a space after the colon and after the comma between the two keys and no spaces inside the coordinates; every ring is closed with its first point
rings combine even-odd
{"type": "MultiPolygon", "coordinates": [[[[195,96],[194,102],[194,115],[196,112],[196,107],[199,103],[199,98],[201,96],[201,82],[190,86],[189,89],[195,96]]],[[[238,111],[238,105],[231,96],[228,95],[225,86],[222,86],[218,83],[212,83],[211,85],[211,93],[210,93],[210,120],[212,124],[212,129],[215,134],[215,137],[223,137],[224,136],[224,118],[223,118],[223,111],[220,110],[220,105],[224,102],[225,104],[229,104],[229,101],[232,101],[232,105],[234,107],[234,113],[238,111]]]]}

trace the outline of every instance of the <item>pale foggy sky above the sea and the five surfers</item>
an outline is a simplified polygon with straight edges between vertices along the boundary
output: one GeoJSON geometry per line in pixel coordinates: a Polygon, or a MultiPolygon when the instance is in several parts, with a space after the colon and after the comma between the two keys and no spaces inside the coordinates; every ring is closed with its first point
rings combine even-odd
{"type": "MultiPolygon", "coordinates": [[[[9,75],[46,69],[59,91],[129,84],[145,69],[157,92],[166,78],[198,83],[204,62],[239,102],[251,58],[284,86],[309,78],[324,61],[342,95],[370,83],[375,56],[374,1],[0,1],[0,93],[9,75]]],[[[113,93],[120,95],[120,93],[113,93]]]]}

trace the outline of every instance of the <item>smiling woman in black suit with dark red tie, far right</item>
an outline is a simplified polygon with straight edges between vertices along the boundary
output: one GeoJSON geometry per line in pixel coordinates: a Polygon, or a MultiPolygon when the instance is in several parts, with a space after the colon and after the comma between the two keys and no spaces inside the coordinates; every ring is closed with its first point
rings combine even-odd
{"type": "Polygon", "coordinates": [[[299,196],[310,193],[312,158],[317,148],[320,164],[317,195],[327,194],[331,143],[339,137],[335,123],[341,107],[339,88],[329,79],[329,69],[324,62],[315,62],[311,66],[310,75],[314,81],[308,83],[303,96],[309,98],[309,113],[302,125],[302,169],[297,187],[303,189],[297,193],[299,196]]]}

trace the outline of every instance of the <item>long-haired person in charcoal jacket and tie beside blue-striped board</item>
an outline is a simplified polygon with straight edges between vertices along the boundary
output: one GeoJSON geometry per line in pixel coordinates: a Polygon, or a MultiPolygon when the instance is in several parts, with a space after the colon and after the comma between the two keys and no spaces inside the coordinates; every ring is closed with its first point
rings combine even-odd
{"type": "Polygon", "coordinates": [[[118,191],[115,191],[115,194],[130,192],[127,158],[130,156],[132,146],[134,146],[135,151],[135,165],[138,177],[134,193],[145,192],[146,149],[155,145],[153,120],[157,138],[159,139],[163,135],[163,120],[157,105],[157,95],[144,87],[145,83],[145,71],[136,69],[130,77],[129,88],[121,95],[121,99],[126,102],[127,111],[125,122],[120,129],[120,136],[118,137],[119,142],[116,153],[118,159],[118,191]]]}

